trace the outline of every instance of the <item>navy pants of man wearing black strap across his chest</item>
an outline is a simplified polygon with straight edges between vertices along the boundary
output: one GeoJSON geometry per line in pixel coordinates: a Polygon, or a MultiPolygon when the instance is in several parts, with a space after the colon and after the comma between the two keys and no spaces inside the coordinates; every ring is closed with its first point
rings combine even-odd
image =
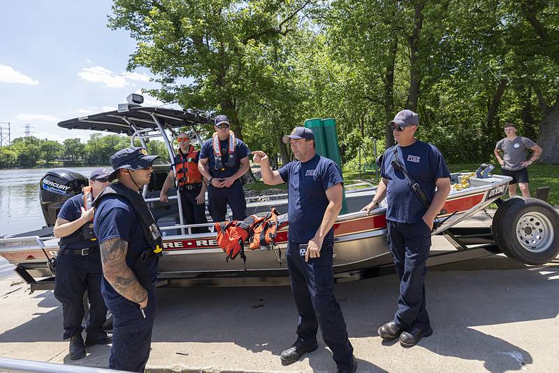
{"type": "Polygon", "coordinates": [[[389,251],[400,278],[400,297],[394,322],[402,328],[430,328],[425,306],[426,262],[431,246],[431,230],[419,223],[395,223],[387,220],[389,251]]]}

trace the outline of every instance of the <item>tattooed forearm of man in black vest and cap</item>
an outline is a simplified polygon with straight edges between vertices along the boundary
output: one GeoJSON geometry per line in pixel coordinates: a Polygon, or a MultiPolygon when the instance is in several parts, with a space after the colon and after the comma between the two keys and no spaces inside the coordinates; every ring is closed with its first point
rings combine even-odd
{"type": "Polygon", "coordinates": [[[117,292],[131,300],[142,303],[147,299],[147,291],[138,283],[131,269],[126,265],[128,242],[123,239],[108,239],[101,243],[101,264],[103,275],[117,292]]]}

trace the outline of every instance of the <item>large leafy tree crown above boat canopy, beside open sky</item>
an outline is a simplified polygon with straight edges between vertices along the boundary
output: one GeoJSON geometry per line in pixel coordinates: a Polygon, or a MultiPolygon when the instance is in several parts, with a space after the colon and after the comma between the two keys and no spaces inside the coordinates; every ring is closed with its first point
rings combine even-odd
{"type": "Polygon", "coordinates": [[[247,55],[297,29],[298,12],[309,3],[115,0],[109,24],[129,30],[138,41],[129,69],[145,66],[159,76],[162,88],[152,94],[224,113],[243,139],[240,112],[260,79],[247,55]]]}

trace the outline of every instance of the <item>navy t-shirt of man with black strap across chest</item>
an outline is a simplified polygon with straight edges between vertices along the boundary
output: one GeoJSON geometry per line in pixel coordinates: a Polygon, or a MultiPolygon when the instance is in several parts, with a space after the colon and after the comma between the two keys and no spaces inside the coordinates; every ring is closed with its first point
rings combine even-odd
{"type": "MultiPolygon", "coordinates": [[[[449,178],[447,162],[437,147],[423,141],[409,146],[397,146],[398,160],[412,180],[421,186],[428,202],[435,197],[437,178],[449,178]]],[[[380,174],[389,181],[386,189],[386,219],[398,223],[419,223],[427,209],[417,197],[400,171],[392,167],[394,147],[384,152],[380,174]]]]}

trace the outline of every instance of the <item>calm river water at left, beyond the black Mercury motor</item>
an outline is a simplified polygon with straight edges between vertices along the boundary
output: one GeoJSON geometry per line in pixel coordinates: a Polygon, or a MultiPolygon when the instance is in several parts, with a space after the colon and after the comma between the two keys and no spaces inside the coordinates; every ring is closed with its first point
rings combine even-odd
{"type": "MultiPolygon", "coordinates": [[[[72,167],[86,177],[97,168],[72,167]]],[[[38,230],[45,225],[39,181],[48,170],[0,169],[0,236],[38,230]]]]}

